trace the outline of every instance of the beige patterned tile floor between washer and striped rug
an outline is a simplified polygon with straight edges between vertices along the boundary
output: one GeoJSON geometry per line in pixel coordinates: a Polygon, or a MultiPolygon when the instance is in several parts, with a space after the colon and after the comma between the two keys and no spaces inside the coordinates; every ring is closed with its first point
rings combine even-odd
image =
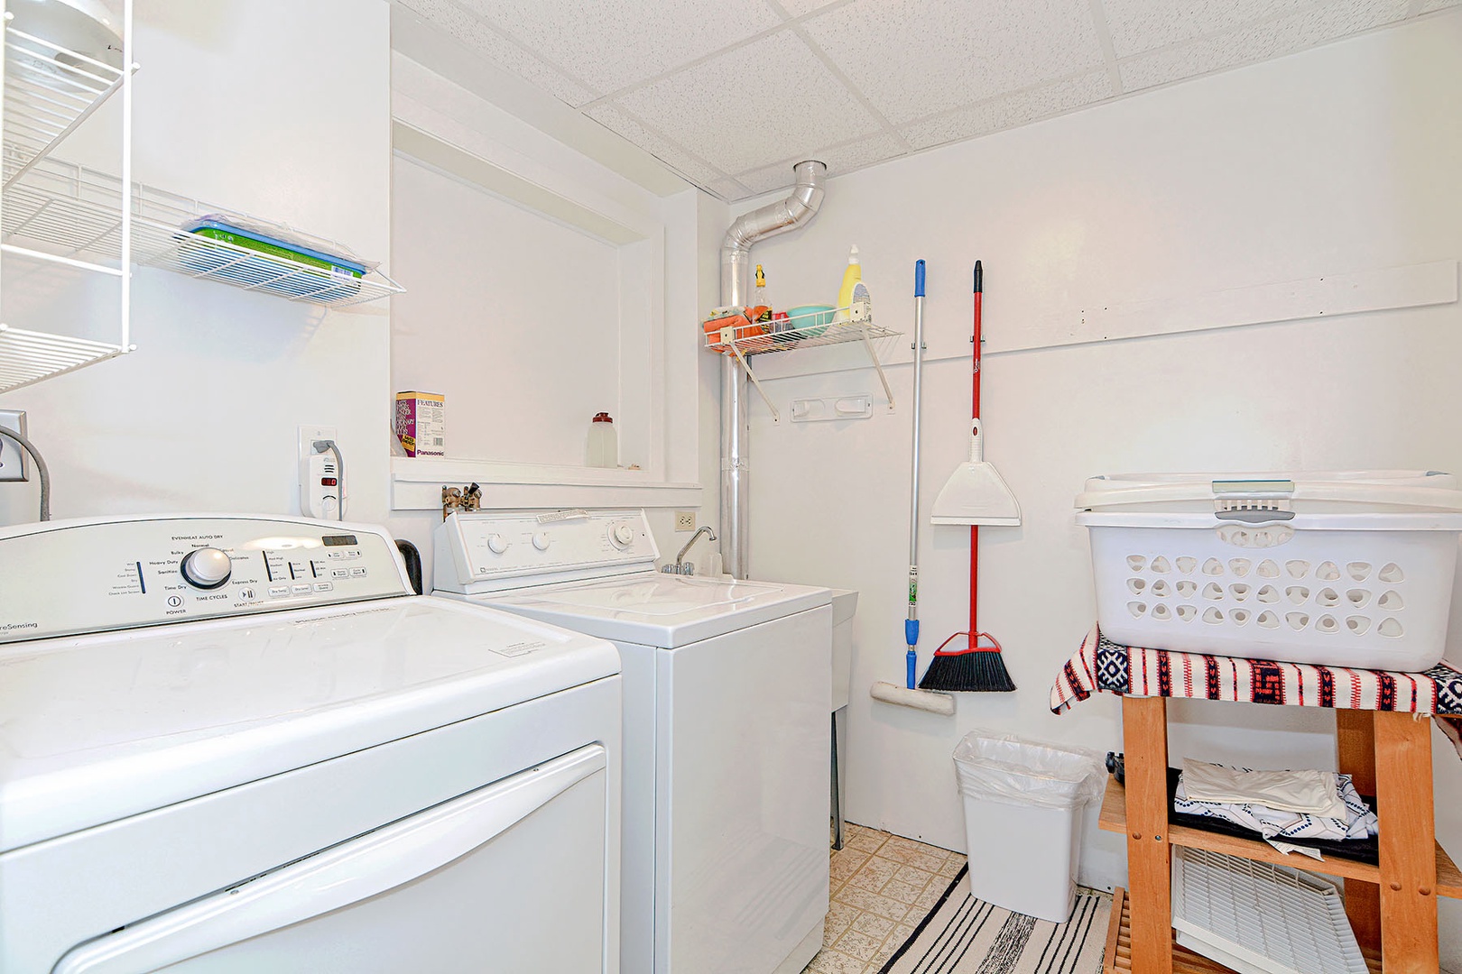
{"type": "Polygon", "coordinates": [[[965,857],[863,825],[832,853],[823,949],[804,974],[874,974],[944,895],[965,857]]]}

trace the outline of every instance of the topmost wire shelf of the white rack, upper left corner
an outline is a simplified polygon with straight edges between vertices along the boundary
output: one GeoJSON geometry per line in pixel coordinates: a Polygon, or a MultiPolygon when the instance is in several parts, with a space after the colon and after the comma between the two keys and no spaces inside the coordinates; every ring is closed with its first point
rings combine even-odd
{"type": "Polygon", "coordinates": [[[121,88],[126,72],[12,26],[4,31],[4,155],[9,184],[121,88]]]}

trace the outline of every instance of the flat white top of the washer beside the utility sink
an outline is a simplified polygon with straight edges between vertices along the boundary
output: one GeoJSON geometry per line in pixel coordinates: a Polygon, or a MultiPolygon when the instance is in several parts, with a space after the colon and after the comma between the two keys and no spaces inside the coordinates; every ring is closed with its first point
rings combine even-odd
{"type": "Polygon", "coordinates": [[[646,571],[480,599],[481,605],[501,606],[605,640],[675,648],[829,605],[832,593],[807,586],[646,571]]]}

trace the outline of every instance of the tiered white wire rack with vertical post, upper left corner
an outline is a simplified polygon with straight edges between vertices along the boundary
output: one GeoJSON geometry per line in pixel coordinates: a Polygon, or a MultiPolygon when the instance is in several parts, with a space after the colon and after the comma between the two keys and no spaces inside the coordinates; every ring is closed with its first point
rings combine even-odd
{"type": "MultiPolygon", "coordinates": [[[[117,92],[121,92],[121,178],[124,183],[130,181],[132,76],[136,72],[136,64],[132,63],[132,0],[123,3],[121,64],[126,67],[113,67],[19,31],[12,26],[12,19],[10,13],[4,15],[4,44],[0,48],[4,60],[0,70],[0,121],[4,131],[0,174],[4,187],[9,188],[41,165],[61,140],[117,92]]],[[[10,216],[4,207],[6,203],[0,203],[0,222],[10,216]]],[[[0,393],[102,362],[136,348],[130,342],[132,275],[126,272],[132,263],[133,216],[121,197],[115,200],[111,221],[115,226],[114,264],[50,248],[25,247],[10,239],[0,242],[0,251],[6,254],[110,275],[120,282],[117,342],[29,331],[0,323],[0,393]]]]}

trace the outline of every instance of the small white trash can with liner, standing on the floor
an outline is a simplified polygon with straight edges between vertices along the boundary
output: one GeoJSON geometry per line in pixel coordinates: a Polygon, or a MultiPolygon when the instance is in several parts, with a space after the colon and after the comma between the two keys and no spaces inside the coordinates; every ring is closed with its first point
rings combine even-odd
{"type": "Polygon", "coordinates": [[[1101,793],[1088,751],[972,730],[955,748],[971,895],[1064,923],[1076,900],[1080,810],[1101,793]]]}

